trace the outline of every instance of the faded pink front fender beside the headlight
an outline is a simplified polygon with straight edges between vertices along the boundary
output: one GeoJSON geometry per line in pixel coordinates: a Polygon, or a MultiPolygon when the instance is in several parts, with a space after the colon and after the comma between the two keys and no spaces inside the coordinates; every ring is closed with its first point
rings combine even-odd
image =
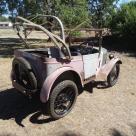
{"type": "Polygon", "coordinates": [[[106,81],[107,76],[111,72],[112,68],[116,63],[122,64],[122,61],[119,58],[112,58],[108,63],[103,65],[100,69],[98,69],[96,73],[96,80],[97,81],[106,81]]]}

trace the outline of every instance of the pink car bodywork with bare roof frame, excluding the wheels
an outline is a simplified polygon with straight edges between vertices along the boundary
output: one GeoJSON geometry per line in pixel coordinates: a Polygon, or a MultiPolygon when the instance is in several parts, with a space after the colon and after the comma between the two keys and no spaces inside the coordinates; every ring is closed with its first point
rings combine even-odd
{"type": "MultiPolygon", "coordinates": [[[[47,16],[49,17],[50,15],[47,16]]],[[[117,57],[114,57],[109,60],[109,62],[107,62],[107,50],[102,48],[102,29],[91,30],[97,33],[96,39],[99,38],[96,47],[94,47],[96,42],[90,39],[90,41],[92,40],[91,42],[85,41],[79,44],[79,47],[77,49],[73,48],[72,52],[72,48],[70,48],[65,42],[63,24],[58,18],[56,19],[59,21],[59,24],[61,26],[61,37],[48,31],[41,25],[35,24],[22,17],[16,18],[16,21],[20,20],[21,23],[20,21],[15,23],[18,32],[17,34],[26,46],[28,45],[27,38],[23,39],[23,37],[21,37],[20,29],[18,29],[19,26],[25,29],[27,27],[30,27],[37,28],[43,31],[46,35],[49,36],[55,47],[57,47],[57,49],[54,47],[49,47],[48,43],[46,43],[47,47],[45,47],[44,49],[21,49],[15,50],[14,52],[15,58],[23,57],[26,59],[26,61],[28,61],[28,63],[30,63],[32,72],[34,73],[38,84],[38,87],[36,89],[40,90],[40,100],[43,103],[48,101],[53,85],[63,73],[72,72],[72,74],[76,74],[76,77],[79,78],[80,84],[83,87],[84,84],[89,83],[92,80],[106,81],[107,76],[109,75],[114,65],[116,63],[121,63],[120,59],[117,57]],[[92,42],[94,43],[92,44],[92,42]],[[88,51],[84,54],[83,52],[81,52],[81,49],[85,49],[85,51],[87,49],[88,51]],[[90,49],[92,50],[90,51],[90,49]],[[41,54],[37,53],[39,51],[41,51],[41,54]],[[45,54],[42,54],[43,52],[45,54]]],[[[14,70],[12,69],[12,81],[14,81],[13,77],[14,70]]],[[[67,78],[69,79],[69,77],[65,77],[65,80],[67,80],[67,78]]],[[[21,87],[16,82],[13,82],[13,86],[15,86],[15,88],[18,88],[18,90],[25,90],[25,88],[21,87]]],[[[77,86],[80,85],[77,84],[77,86]]]]}

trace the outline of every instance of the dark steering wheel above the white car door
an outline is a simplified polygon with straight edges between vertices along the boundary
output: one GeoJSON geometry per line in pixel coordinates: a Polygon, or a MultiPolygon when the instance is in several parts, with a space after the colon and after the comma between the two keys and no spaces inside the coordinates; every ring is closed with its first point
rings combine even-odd
{"type": "Polygon", "coordinates": [[[81,54],[90,54],[93,50],[93,42],[92,41],[85,41],[82,42],[79,47],[80,47],[80,53],[81,54]]]}

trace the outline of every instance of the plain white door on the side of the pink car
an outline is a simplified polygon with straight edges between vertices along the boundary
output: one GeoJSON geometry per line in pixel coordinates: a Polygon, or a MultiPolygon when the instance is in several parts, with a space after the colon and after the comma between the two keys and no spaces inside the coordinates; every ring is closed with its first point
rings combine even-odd
{"type": "Polygon", "coordinates": [[[96,74],[99,65],[99,53],[83,55],[84,75],[88,79],[96,74]]]}

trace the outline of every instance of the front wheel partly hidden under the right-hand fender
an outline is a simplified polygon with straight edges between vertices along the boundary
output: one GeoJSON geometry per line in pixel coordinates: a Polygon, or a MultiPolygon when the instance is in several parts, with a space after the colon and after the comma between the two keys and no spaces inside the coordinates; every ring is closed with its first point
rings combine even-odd
{"type": "Polygon", "coordinates": [[[109,87],[114,86],[119,78],[120,64],[116,63],[107,77],[107,83],[109,87]]]}

